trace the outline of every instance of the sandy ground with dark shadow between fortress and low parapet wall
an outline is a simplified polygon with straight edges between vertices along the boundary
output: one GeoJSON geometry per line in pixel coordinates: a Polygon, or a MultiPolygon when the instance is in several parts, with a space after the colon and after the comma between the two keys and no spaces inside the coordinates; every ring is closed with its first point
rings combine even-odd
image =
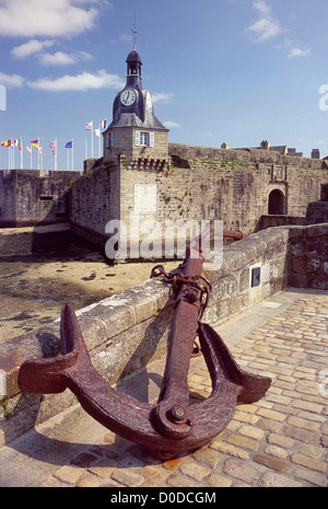
{"type": "Polygon", "coordinates": [[[66,302],[78,310],[144,281],[154,265],[113,266],[66,225],[0,229],[0,343],[57,320],[66,302]]]}

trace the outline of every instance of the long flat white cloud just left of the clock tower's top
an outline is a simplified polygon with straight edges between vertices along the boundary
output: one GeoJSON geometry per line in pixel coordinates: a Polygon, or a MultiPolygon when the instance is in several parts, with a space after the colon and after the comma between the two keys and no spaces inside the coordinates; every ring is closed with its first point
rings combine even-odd
{"type": "Polygon", "coordinates": [[[108,74],[105,70],[97,71],[96,74],[82,72],[77,76],[66,74],[61,78],[40,78],[36,81],[27,81],[32,89],[46,91],[82,91],[98,89],[121,89],[125,85],[122,79],[117,74],[108,74]]]}

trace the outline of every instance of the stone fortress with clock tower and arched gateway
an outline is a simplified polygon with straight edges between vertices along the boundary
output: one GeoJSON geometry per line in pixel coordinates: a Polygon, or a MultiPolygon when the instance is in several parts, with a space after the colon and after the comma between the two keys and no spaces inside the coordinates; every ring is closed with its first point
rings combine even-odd
{"type": "Polygon", "coordinates": [[[104,246],[118,224],[128,243],[151,243],[163,241],[168,220],[220,219],[246,234],[305,222],[308,203],[323,198],[328,183],[328,164],[317,151],[306,159],[267,140],[244,149],[169,143],[151,92],[142,88],[136,48],[126,62],[126,85],[103,134],[103,158],[86,161],[85,174],[72,186],[70,220],[80,235],[104,246]]]}

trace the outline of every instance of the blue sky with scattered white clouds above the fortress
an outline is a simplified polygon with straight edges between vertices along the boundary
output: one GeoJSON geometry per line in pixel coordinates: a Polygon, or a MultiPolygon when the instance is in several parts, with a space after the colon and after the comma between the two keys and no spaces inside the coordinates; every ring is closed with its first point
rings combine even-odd
{"type": "MultiPolygon", "coordinates": [[[[134,12],[143,88],[169,141],[233,148],[268,139],[328,155],[327,0],[0,0],[0,138],[23,138],[24,167],[26,146],[39,138],[43,166],[54,170],[48,146],[57,139],[66,170],[73,139],[82,170],[85,141],[91,155],[84,125],[112,122],[125,85],[134,12]]],[[[0,169],[8,150],[0,147],[0,169]]]]}

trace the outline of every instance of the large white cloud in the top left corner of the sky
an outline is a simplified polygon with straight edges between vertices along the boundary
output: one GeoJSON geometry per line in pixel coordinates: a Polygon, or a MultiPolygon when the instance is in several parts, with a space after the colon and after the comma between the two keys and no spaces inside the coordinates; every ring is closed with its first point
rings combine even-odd
{"type": "Polygon", "coordinates": [[[71,36],[92,30],[99,0],[1,0],[0,35],[12,37],[71,36]],[[83,8],[79,4],[87,4],[83,8]],[[87,9],[89,7],[89,9],[87,9]]]}

